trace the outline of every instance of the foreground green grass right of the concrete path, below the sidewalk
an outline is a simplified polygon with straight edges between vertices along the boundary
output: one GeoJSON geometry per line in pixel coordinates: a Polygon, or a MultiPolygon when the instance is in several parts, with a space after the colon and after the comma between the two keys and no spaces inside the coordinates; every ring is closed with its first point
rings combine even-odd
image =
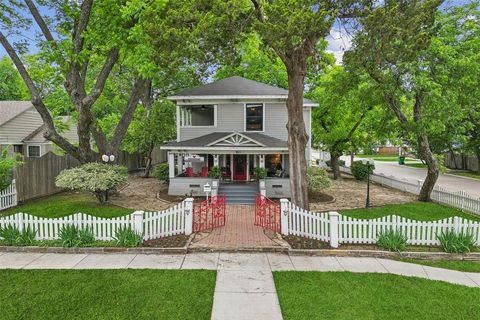
{"type": "Polygon", "coordinates": [[[480,319],[480,289],[391,274],[274,272],[285,320],[480,319]]]}

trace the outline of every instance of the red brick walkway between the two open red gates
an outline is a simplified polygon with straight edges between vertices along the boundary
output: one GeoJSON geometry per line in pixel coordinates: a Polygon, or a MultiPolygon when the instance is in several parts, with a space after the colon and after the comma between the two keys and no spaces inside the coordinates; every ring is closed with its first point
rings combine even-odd
{"type": "Polygon", "coordinates": [[[191,243],[193,248],[271,247],[278,244],[267,237],[263,228],[253,225],[253,205],[227,205],[227,222],[209,234],[198,234],[191,243]]]}

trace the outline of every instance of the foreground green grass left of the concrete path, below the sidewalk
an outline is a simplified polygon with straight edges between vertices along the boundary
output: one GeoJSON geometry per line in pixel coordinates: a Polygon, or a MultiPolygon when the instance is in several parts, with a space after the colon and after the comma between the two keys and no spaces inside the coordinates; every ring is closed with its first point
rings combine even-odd
{"type": "Polygon", "coordinates": [[[206,270],[4,270],[0,319],[210,319],[206,270]]]}

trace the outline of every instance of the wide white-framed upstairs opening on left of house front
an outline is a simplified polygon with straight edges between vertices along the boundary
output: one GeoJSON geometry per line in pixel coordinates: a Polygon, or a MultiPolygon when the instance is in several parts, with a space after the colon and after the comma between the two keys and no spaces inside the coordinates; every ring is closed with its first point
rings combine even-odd
{"type": "Polygon", "coordinates": [[[217,108],[215,105],[189,105],[180,107],[181,127],[215,127],[217,108]]]}

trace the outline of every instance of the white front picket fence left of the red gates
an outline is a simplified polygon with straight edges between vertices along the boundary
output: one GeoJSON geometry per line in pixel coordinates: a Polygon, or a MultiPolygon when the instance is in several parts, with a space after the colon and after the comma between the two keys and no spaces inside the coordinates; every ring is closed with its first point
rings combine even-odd
{"type": "Polygon", "coordinates": [[[157,212],[135,211],[115,218],[99,218],[77,213],[61,218],[42,218],[26,213],[0,217],[0,228],[8,225],[20,231],[30,228],[35,230],[37,240],[55,240],[60,237],[60,230],[67,225],[89,228],[97,240],[113,240],[118,229],[131,227],[144,240],[157,239],[172,235],[192,233],[193,199],[188,198],[176,206],[157,212]]]}

